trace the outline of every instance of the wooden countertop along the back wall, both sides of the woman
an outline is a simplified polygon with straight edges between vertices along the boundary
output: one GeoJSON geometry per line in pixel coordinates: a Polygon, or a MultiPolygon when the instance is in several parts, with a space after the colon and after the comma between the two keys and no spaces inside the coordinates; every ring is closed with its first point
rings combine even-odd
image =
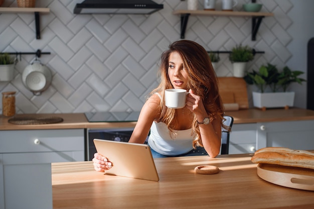
{"type": "MultiPolygon", "coordinates": [[[[84,113],[54,113],[54,114],[20,114],[39,116],[59,116],[63,122],[53,124],[30,124],[16,125],[8,122],[10,117],[0,116],[0,130],[26,130],[26,129],[69,129],[69,128],[115,128],[116,122],[88,122],[84,113]]],[[[314,119],[314,111],[301,108],[275,108],[262,111],[257,108],[242,109],[238,111],[226,111],[226,115],[234,118],[234,124],[273,122],[273,121],[293,121],[314,119]]],[[[134,127],[136,122],[118,122],[119,127],[134,127]]]]}

